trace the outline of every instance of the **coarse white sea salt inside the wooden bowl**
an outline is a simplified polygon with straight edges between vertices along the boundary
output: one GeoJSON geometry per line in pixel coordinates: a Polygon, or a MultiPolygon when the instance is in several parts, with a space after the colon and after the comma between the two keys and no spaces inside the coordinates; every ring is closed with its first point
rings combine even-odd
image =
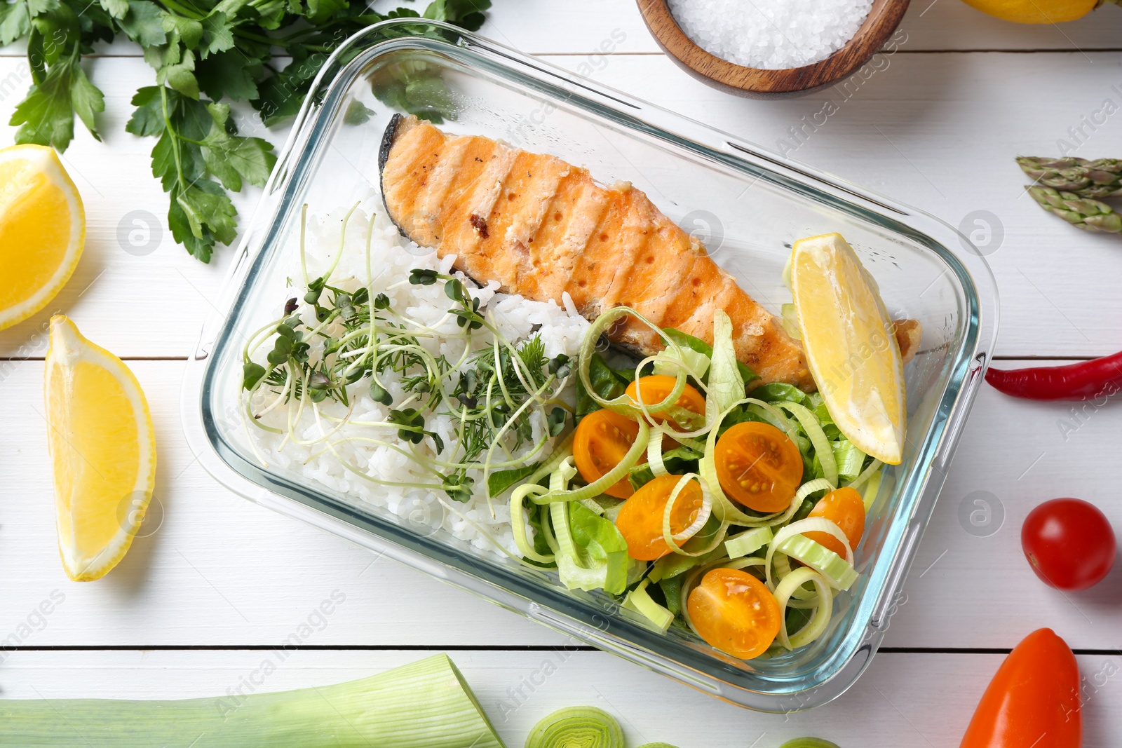
{"type": "Polygon", "coordinates": [[[681,29],[737,65],[782,70],[826,59],[861,28],[872,0],[668,0],[681,29]]]}

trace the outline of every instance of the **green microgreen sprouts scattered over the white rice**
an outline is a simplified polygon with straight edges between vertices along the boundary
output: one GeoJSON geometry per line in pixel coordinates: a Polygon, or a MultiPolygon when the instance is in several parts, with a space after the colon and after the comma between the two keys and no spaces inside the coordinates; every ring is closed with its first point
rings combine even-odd
{"type": "MultiPolygon", "coordinates": [[[[343,221],[343,233],[350,215],[343,221]]],[[[431,268],[414,268],[407,276],[413,286],[443,284],[450,302],[444,320],[456,320],[456,332],[442,332],[448,330],[441,327],[443,323],[411,317],[395,307],[387,293],[373,290],[369,280],[359,285],[355,279],[333,278],[339,255],[323,275],[312,277],[303,248],[306,232],[301,229],[305,289],[287,299],[284,316],[255,333],[243,352],[247,423],[286,433],[286,441],[294,443],[322,443],[315,453],[330,452],[348,471],[373,482],[402,486],[349,462],[337,449],[347,441],[387,446],[407,454],[435,479],[408,486],[442,491],[463,502],[471,499],[477,483],[469,471],[481,470],[481,484],[487,484],[491,470],[532,463],[549,440],[564,431],[570,423],[568,410],[557,407],[553,398],[572,373],[569,357],[548,358],[537,335],[518,343],[505,339],[476,286],[462,276],[431,268]],[[441,349],[452,341],[459,341],[462,354],[449,360],[441,349]],[[404,396],[395,397],[397,388],[404,396]],[[362,419],[356,425],[393,430],[405,445],[342,432],[351,422],[358,393],[368,393],[386,408],[386,415],[384,421],[362,419]],[[327,400],[348,406],[348,415],[321,413],[319,405],[327,400]],[[284,405],[287,431],[260,423],[263,415],[284,405]],[[311,409],[318,423],[333,424],[330,431],[324,427],[322,438],[297,438],[294,424],[305,409],[311,409]],[[451,419],[456,434],[451,443],[433,427],[436,416],[451,419]]]]}

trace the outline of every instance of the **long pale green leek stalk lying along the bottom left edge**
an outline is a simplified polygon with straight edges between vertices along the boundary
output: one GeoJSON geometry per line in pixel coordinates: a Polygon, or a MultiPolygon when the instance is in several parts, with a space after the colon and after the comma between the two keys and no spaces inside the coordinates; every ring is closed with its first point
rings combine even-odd
{"type": "Polygon", "coordinates": [[[335,685],[183,701],[0,701],[0,745],[504,748],[448,655],[335,685]]]}

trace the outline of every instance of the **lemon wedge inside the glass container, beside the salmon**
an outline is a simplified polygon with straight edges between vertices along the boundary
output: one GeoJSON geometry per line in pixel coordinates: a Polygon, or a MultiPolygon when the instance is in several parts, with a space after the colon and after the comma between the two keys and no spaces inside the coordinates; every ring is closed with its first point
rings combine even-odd
{"type": "Polygon", "coordinates": [[[876,284],[840,234],[794,242],[791,293],[807,366],[834,423],[863,452],[900,464],[903,363],[876,284]]]}

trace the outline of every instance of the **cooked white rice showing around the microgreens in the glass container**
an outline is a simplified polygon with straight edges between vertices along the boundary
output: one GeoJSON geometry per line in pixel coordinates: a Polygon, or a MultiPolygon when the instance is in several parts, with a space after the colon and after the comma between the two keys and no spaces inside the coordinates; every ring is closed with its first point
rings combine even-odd
{"type": "MultiPolygon", "coordinates": [[[[456,317],[448,314],[449,302],[444,295],[444,284],[430,286],[411,285],[407,280],[410,270],[414,268],[435,269],[440,273],[451,273],[453,257],[440,259],[434,251],[419,248],[412,241],[404,239],[397,228],[385,215],[380,205],[369,202],[374,209],[374,228],[370,243],[369,278],[371,298],[379,293],[390,299],[392,308],[403,314],[434,326],[449,338],[421,339],[422,344],[435,355],[443,354],[450,361],[459,360],[463,352],[461,331],[456,317]]],[[[309,216],[305,240],[307,277],[322,275],[335,260],[340,246],[340,230],[347,209],[334,211],[323,219],[309,216]]],[[[331,276],[330,285],[352,290],[367,284],[366,236],[369,225],[368,213],[356,211],[347,223],[346,238],[342,243],[342,257],[331,276]]],[[[291,270],[292,288],[277,288],[276,296],[295,296],[303,298],[306,288],[302,287],[303,273],[300,267],[300,237],[294,232],[294,247],[289,255],[295,258],[291,270]]],[[[459,275],[459,274],[456,274],[459,275]]],[[[462,278],[463,276],[460,275],[462,278]]],[[[497,293],[498,284],[489,283],[484,288],[473,288],[466,281],[472,297],[480,301],[480,313],[486,311],[495,326],[503,335],[513,342],[541,335],[545,344],[545,355],[549,358],[561,353],[576,359],[585,331],[589,323],[577,313],[572,299],[565,294],[562,308],[553,302],[533,302],[522,296],[497,293]]],[[[312,307],[301,303],[296,313],[307,321],[312,320],[312,307]]],[[[478,350],[490,345],[493,336],[486,329],[472,334],[472,349],[478,350]]],[[[264,354],[272,345],[272,339],[254,355],[263,362],[264,354]]],[[[394,406],[399,407],[407,395],[399,384],[399,377],[392,370],[386,370],[380,381],[394,397],[394,406]]],[[[571,378],[570,378],[571,379],[571,378]]],[[[571,401],[571,386],[567,387],[571,401]]],[[[360,468],[366,474],[387,481],[398,482],[432,482],[431,475],[410,458],[392,447],[353,441],[355,438],[378,438],[405,450],[434,455],[432,440],[425,440],[416,445],[397,437],[394,428],[359,425],[361,422],[384,422],[389,408],[371,399],[369,379],[365,378],[348,387],[351,398],[351,409],[346,423],[338,432],[331,434],[337,423],[330,418],[344,418],[348,407],[331,399],[319,404],[319,419],[315,410],[307,406],[294,418],[291,436],[274,434],[260,428],[248,426],[259,456],[270,467],[294,471],[300,475],[352,498],[358,506],[385,508],[397,515],[404,524],[422,535],[431,535],[440,527],[453,536],[469,542],[479,550],[495,553],[499,551],[493,541],[502,544],[508,552],[519,555],[511,533],[509,509],[506,501],[491,501],[488,507],[482,481],[482,470],[470,470],[475,479],[475,495],[471,501],[459,504],[451,501],[443,492],[424,489],[402,489],[380,486],[362,475],[346,469],[339,458],[360,468]],[[337,443],[339,458],[325,449],[324,434],[331,435],[331,442],[337,443]]],[[[276,399],[269,388],[260,388],[251,403],[255,413],[260,413],[269,403],[276,399]]],[[[438,408],[438,412],[443,409],[438,408]]],[[[291,412],[295,416],[294,407],[291,412]]],[[[279,405],[258,419],[259,424],[288,430],[289,409],[279,405]]],[[[442,459],[451,456],[451,449],[457,443],[457,419],[447,415],[426,417],[426,428],[438,433],[447,449],[442,459]]],[[[535,442],[544,435],[544,424],[535,417],[532,422],[535,442]]],[[[532,445],[524,445],[522,453],[532,445]]],[[[535,460],[546,456],[552,451],[552,440],[535,456],[535,460]]],[[[518,454],[517,452],[515,453],[518,454]]]]}

